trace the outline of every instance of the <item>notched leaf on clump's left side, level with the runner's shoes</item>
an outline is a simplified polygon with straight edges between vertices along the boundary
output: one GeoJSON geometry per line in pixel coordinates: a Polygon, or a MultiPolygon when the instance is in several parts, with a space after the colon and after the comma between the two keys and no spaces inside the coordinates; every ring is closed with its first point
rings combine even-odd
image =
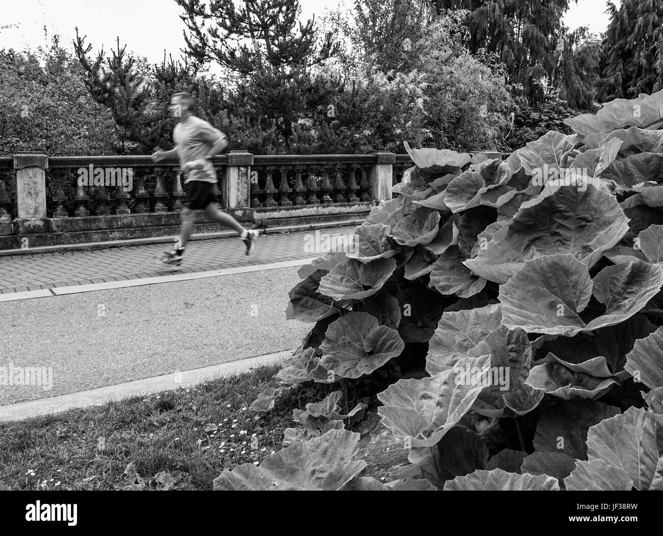
{"type": "Polygon", "coordinates": [[[320,279],[318,292],[337,301],[367,298],[383,287],[395,269],[394,259],[377,259],[368,264],[357,259],[343,261],[320,279]]]}

